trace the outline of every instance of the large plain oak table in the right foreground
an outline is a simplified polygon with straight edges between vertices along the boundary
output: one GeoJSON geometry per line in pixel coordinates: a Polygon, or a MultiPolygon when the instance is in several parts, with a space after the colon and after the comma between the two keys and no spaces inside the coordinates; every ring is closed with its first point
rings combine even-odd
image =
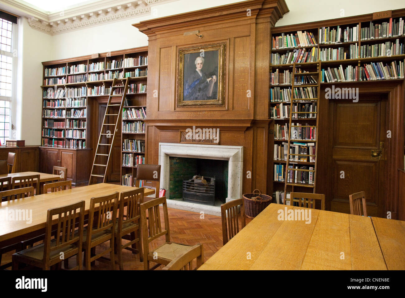
{"type": "Polygon", "coordinates": [[[311,223],[278,220],[285,207],[307,209],[270,204],[198,270],[405,269],[405,221],[315,209],[311,223]]]}

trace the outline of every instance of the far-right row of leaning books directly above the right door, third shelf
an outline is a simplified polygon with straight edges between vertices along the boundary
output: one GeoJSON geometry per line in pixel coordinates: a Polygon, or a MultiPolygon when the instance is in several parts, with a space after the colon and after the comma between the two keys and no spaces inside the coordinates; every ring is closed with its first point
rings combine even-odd
{"type": "Polygon", "coordinates": [[[390,64],[371,62],[364,64],[360,69],[360,81],[373,81],[382,79],[403,79],[404,61],[392,61],[390,64]]]}

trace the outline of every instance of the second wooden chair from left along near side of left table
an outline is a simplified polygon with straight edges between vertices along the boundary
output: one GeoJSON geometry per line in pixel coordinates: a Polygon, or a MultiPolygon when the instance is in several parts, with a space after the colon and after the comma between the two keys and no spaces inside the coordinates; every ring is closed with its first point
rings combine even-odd
{"type": "Polygon", "coordinates": [[[114,230],[118,197],[119,193],[116,191],[111,195],[92,197],[90,200],[89,221],[83,231],[83,250],[87,270],[91,270],[91,263],[96,259],[110,263],[110,269],[114,269],[114,230]],[[112,213],[111,210],[113,210],[112,213]],[[110,241],[109,249],[96,255],[96,246],[107,241],[110,241]],[[107,253],[110,253],[110,259],[103,257],[107,253]]]}

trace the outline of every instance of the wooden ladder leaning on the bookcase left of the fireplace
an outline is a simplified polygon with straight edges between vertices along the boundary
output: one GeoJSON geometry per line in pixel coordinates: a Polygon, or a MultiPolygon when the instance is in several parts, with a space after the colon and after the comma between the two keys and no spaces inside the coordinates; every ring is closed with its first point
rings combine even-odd
{"type": "Polygon", "coordinates": [[[115,138],[121,135],[118,131],[117,126],[122,118],[122,108],[124,106],[124,99],[128,90],[129,78],[125,79],[113,79],[113,84],[111,85],[110,95],[107,102],[107,108],[105,109],[104,119],[102,121],[102,126],[100,130],[100,135],[98,137],[96,152],[94,154],[94,161],[92,166],[92,172],[90,172],[89,185],[99,183],[101,180],[105,183],[107,182],[107,173],[111,167],[111,152],[113,151],[113,144],[115,138]],[[123,93],[116,94],[115,90],[117,88],[124,88],[123,93]],[[116,97],[121,97],[121,103],[111,103],[112,99],[116,97]],[[118,114],[114,114],[113,107],[118,107],[118,114]],[[115,119],[115,117],[117,117],[115,119]],[[111,118],[115,120],[111,120],[111,118]],[[107,123],[109,122],[109,123],[107,123]],[[113,131],[113,133],[111,133],[113,131]],[[112,137],[111,137],[112,134],[112,137]],[[106,136],[106,137],[103,137],[106,136]],[[102,143],[102,139],[107,140],[106,143],[102,143]],[[106,162],[107,159],[107,162],[106,162]]]}

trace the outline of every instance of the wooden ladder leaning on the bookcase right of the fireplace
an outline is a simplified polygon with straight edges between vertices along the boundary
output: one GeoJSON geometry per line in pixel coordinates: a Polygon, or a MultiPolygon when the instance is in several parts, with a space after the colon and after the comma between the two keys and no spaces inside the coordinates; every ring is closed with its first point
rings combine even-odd
{"type": "MultiPolygon", "coordinates": [[[[291,82],[291,103],[290,103],[290,124],[288,126],[288,149],[287,149],[287,161],[286,161],[286,175],[284,176],[284,205],[286,204],[287,201],[287,187],[291,186],[291,192],[294,192],[294,187],[307,187],[309,189],[311,189],[312,193],[315,193],[315,185],[316,185],[316,170],[317,170],[317,156],[318,156],[318,135],[319,135],[319,130],[318,130],[318,121],[319,121],[319,117],[318,117],[318,111],[319,111],[319,95],[320,95],[320,80],[321,80],[321,62],[306,62],[306,63],[294,63],[292,66],[292,82],[291,82]],[[317,67],[317,71],[316,72],[308,72],[308,73],[296,73],[296,66],[307,66],[307,65],[311,65],[311,64],[316,64],[317,67]],[[294,82],[295,82],[295,78],[296,77],[300,77],[300,76],[312,76],[312,77],[318,77],[318,82],[317,84],[313,83],[313,84],[297,84],[296,86],[294,86],[294,82]],[[316,89],[316,98],[311,99],[311,98],[307,98],[307,99],[296,99],[295,98],[295,94],[294,94],[294,88],[300,88],[300,87],[317,87],[316,89]],[[305,111],[293,111],[294,108],[294,103],[316,103],[317,104],[317,109],[316,112],[305,112],[305,111]],[[315,114],[316,115],[316,124],[315,125],[294,125],[292,126],[292,115],[293,114],[315,114]],[[292,131],[292,127],[315,127],[316,132],[315,132],[315,140],[300,140],[300,139],[293,139],[291,137],[291,131],[292,131]],[[315,155],[314,154],[309,154],[309,148],[308,148],[308,154],[299,154],[299,152],[297,153],[291,153],[290,152],[290,146],[292,142],[309,142],[309,143],[315,143],[315,155]],[[295,161],[295,156],[299,156],[299,157],[314,157],[315,158],[315,163],[314,165],[312,163],[307,162],[303,162],[303,161],[295,161]],[[290,165],[290,158],[294,157],[294,160],[291,161],[291,163],[295,163],[295,164],[299,164],[299,165],[313,165],[313,170],[310,169],[294,169],[291,168],[289,169],[288,166],[290,165]],[[301,171],[301,172],[312,172],[312,180],[313,180],[313,184],[303,184],[303,183],[295,183],[294,181],[288,182],[288,178],[289,178],[289,174],[290,171],[292,171],[294,173],[294,171],[301,171]]],[[[295,118],[294,120],[296,121],[300,121],[300,120],[307,120],[306,118],[295,118]]],[[[293,175],[294,177],[294,175],[293,175]]],[[[291,204],[291,203],[290,203],[291,204]]],[[[291,204],[292,205],[292,204],[291,204]]]]}

